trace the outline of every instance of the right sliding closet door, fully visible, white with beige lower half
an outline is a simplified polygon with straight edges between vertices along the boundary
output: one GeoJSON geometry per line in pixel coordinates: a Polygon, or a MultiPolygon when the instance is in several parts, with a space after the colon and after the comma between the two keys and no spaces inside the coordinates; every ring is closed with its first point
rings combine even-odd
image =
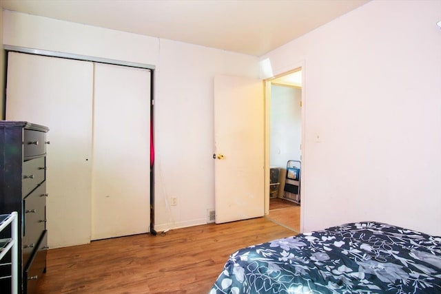
{"type": "Polygon", "coordinates": [[[96,63],[92,240],[150,231],[150,70],[96,63]]]}

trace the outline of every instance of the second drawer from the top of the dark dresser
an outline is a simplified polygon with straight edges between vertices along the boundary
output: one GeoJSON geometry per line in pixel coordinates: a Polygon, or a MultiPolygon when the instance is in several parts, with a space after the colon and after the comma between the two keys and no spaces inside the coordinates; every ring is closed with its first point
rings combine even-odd
{"type": "Polygon", "coordinates": [[[46,178],[45,157],[34,158],[23,162],[22,196],[27,196],[46,178]]]}

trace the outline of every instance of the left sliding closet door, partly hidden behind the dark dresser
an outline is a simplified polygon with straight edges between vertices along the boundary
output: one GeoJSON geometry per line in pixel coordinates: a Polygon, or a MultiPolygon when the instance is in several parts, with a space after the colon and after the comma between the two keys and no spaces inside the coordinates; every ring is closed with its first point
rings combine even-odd
{"type": "Polygon", "coordinates": [[[93,64],[10,52],[6,119],[50,128],[50,247],[90,242],[93,64]]]}

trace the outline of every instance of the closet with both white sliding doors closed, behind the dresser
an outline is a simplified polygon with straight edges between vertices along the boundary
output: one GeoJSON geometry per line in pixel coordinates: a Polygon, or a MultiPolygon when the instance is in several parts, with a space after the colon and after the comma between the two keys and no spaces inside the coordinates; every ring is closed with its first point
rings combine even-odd
{"type": "Polygon", "coordinates": [[[150,230],[150,74],[8,52],[6,119],[50,125],[51,248],[150,230]]]}

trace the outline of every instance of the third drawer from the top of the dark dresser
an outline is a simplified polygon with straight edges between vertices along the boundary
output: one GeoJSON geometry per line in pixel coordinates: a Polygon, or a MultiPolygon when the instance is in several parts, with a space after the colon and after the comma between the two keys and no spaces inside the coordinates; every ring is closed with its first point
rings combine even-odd
{"type": "Polygon", "coordinates": [[[45,222],[45,182],[23,200],[23,265],[37,248],[41,233],[46,229],[45,222]]]}

